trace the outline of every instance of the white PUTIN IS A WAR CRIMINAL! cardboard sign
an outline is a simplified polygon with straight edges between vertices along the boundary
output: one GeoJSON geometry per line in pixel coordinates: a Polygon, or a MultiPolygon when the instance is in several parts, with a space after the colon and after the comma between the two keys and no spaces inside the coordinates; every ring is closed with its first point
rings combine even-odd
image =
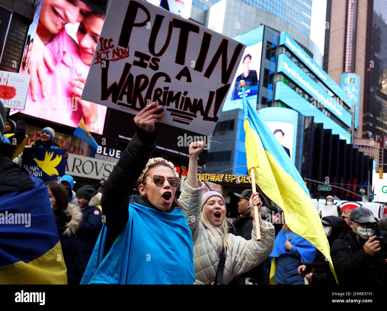
{"type": "Polygon", "coordinates": [[[82,99],[211,135],[245,45],[143,0],[111,0],[82,99]]]}

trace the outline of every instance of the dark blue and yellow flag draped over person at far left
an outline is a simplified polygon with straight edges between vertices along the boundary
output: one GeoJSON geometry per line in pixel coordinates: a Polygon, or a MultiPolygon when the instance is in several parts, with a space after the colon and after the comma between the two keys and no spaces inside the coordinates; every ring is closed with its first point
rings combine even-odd
{"type": "Polygon", "coordinates": [[[0,284],[67,284],[67,269],[47,186],[0,193],[0,284]]]}

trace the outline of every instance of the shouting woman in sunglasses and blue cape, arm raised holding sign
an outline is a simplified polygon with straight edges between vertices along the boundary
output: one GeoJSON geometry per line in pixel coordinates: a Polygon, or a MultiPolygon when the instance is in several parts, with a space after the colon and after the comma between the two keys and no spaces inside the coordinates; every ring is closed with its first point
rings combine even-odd
{"type": "MultiPolygon", "coordinates": [[[[171,162],[149,159],[161,108],[152,103],[134,118],[137,133],[105,182],[106,222],[81,284],[195,282],[192,235],[175,198],[180,178],[171,162]],[[129,197],[136,181],[140,195],[129,197]]],[[[199,204],[201,189],[188,189],[192,204],[199,204]]]]}

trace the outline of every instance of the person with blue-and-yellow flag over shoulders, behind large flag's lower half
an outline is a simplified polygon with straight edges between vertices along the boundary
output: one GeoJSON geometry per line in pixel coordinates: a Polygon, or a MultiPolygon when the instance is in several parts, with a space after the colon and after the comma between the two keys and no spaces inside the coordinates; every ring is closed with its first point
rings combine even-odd
{"type": "Polygon", "coordinates": [[[312,261],[316,248],[312,243],[289,229],[284,223],[282,230],[274,240],[274,249],[269,256],[271,260],[270,284],[305,284],[298,274],[301,261],[312,261]]]}

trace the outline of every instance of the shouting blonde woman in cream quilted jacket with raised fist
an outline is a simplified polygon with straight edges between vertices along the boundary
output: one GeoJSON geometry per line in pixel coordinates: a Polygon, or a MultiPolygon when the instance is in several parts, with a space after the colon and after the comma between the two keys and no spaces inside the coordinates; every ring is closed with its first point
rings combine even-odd
{"type": "MultiPolygon", "coordinates": [[[[228,233],[223,197],[214,191],[202,195],[204,185],[197,179],[197,158],[204,149],[203,145],[203,142],[194,142],[190,145],[188,178],[179,202],[192,232],[197,280],[195,283],[212,284],[215,281],[224,245],[227,250],[223,284],[228,284],[233,277],[257,267],[270,255],[274,246],[274,226],[264,220],[260,221],[261,241],[257,241],[255,235],[255,222],[251,232],[252,239],[249,241],[228,233]]],[[[253,193],[250,197],[250,207],[252,204],[258,205],[259,208],[262,206],[257,193],[253,193]]],[[[253,208],[251,212],[253,215],[253,208]]]]}

